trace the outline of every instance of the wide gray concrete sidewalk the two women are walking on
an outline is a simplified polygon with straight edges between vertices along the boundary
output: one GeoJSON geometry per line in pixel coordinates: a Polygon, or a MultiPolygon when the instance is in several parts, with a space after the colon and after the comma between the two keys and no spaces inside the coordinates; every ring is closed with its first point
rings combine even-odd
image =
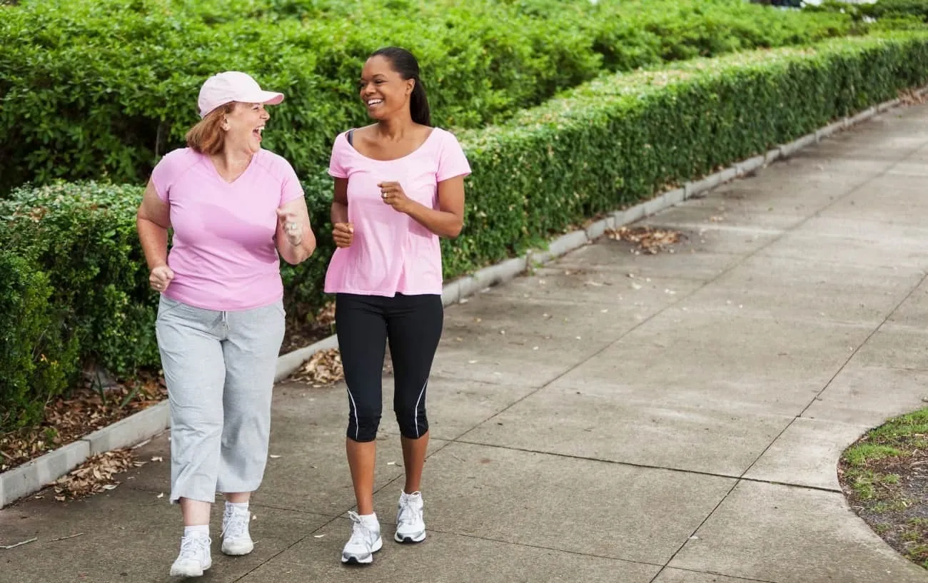
{"type": "MultiPolygon", "coordinates": [[[[339,563],[343,386],[277,387],[255,551],[202,581],[894,583],[928,573],[838,486],[840,452],[928,395],[928,107],[892,110],[652,216],[675,253],[601,240],[445,313],[429,538],[339,563]]],[[[386,387],[391,386],[388,379],[386,387]]],[[[402,456],[385,395],[376,510],[402,456]]],[[[3,583],[166,581],[166,435],[122,486],[0,511],[3,583]],[[164,493],[163,498],[159,498],[164,493]],[[84,533],[80,537],[55,538],[84,533]]]]}

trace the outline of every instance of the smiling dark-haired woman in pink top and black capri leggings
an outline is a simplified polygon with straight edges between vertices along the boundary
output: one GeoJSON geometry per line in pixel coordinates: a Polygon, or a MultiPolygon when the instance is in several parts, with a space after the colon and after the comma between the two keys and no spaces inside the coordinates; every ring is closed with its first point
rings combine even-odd
{"type": "Polygon", "coordinates": [[[442,335],[439,237],[455,238],[464,218],[470,165],[458,140],[432,127],[419,63],[387,47],[364,65],[361,100],[376,122],[335,139],[331,219],[338,249],[325,291],[348,385],[348,465],[357,512],[342,563],[368,564],[380,550],[373,507],[375,437],[380,424],[384,347],[393,360],[393,412],[406,484],[396,514],[397,542],[425,538],[419,482],[429,444],[425,395],[442,335]]]}

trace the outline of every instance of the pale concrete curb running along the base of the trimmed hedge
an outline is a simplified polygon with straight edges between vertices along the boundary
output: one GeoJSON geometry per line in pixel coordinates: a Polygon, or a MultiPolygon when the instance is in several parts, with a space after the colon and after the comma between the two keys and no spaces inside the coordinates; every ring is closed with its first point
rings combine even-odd
{"type": "MultiPolygon", "coordinates": [[[[928,95],[928,87],[915,91],[915,94],[920,97],[928,95]]],[[[630,208],[616,211],[583,229],[561,235],[550,241],[546,250],[532,250],[521,257],[507,259],[494,266],[483,267],[469,276],[455,279],[445,284],[442,291],[442,303],[445,306],[457,304],[470,295],[516,278],[530,266],[543,265],[599,239],[606,229],[635,223],[646,216],[696,197],[737,177],[754,173],[772,162],[789,158],[800,149],[818,143],[822,138],[833,136],[852,125],[866,122],[878,113],[892,110],[901,103],[901,99],[893,99],[870,107],[853,117],[845,117],[843,120],[819,128],[789,144],[770,149],[765,154],[735,162],[715,174],[687,182],[683,188],[664,192],[650,201],[640,202],[630,208]]],[[[281,382],[289,377],[316,352],[337,347],[338,340],[333,334],[317,343],[279,356],[274,382],[281,382]]],[[[159,403],[89,434],[80,441],[60,447],[18,468],[0,473],[0,508],[55,482],[91,455],[119,447],[133,446],[153,435],[160,434],[169,426],[168,404],[167,402],[159,403]]]]}

